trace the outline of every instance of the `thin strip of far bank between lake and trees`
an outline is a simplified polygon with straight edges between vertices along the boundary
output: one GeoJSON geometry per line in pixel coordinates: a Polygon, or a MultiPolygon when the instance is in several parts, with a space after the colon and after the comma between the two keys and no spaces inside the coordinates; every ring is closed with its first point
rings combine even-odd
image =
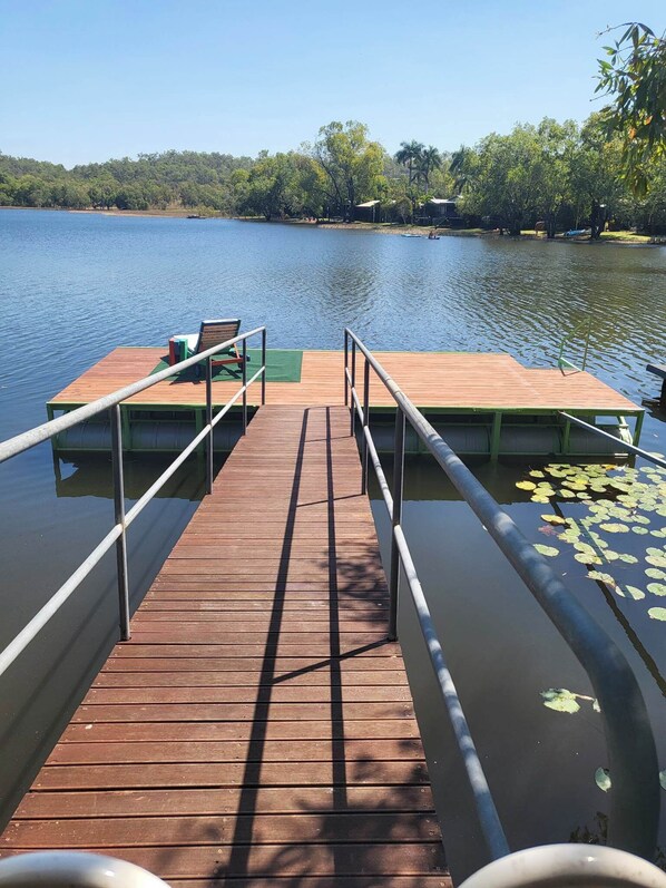
{"type": "MultiPolygon", "coordinates": [[[[594,246],[615,245],[615,246],[666,246],[666,236],[662,236],[660,242],[650,243],[650,235],[623,236],[623,233],[605,232],[599,241],[590,241],[587,235],[582,237],[565,237],[557,234],[550,241],[545,235],[537,235],[531,230],[526,230],[520,235],[501,235],[497,228],[432,228],[423,225],[400,225],[385,222],[311,222],[308,219],[271,219],[270,222],[258,216],[225,216],[222,213],[210,213],[197,215],[187,209],[69,209],[58,206],[0,206],[1,209],[40,209],[49,213],[72,213],[75,215],[99,215],[115,216],[118,218],[144,217],[144,218],[190,218],[193,222],[206,222],[208,219],[233,219],[235,222],[249,222],[262,225],[304,225],[317,230],[345,231],[345,232],[372,232],[373,234],[403,235],[413,234],[428,240],[428,232],[434,231],[439,237],[503,237],[511,241],[539,241],[542,243],[565,243],[565,244],[589,244],[594,246]],[[615,236],[617,234],[617,236],[615,236]]],[[[659,237],[659,235],[657,235],[659,237]]]]}

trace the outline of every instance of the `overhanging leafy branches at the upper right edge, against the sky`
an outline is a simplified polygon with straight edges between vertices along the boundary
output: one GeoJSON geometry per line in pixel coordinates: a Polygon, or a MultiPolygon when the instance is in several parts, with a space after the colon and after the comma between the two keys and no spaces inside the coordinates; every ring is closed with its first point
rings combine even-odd
{"type": "MultiPolygon", "coordinates": [[[[620,26],[624,27],[624,26],[620,26]]],[[[630,22],[599,60],[596,92],[613,97],[601,115],[606,131],[621,142],[623,175],[637,195],[648,187],[653,157],[666,156],[666,39],[630,22]]]]}

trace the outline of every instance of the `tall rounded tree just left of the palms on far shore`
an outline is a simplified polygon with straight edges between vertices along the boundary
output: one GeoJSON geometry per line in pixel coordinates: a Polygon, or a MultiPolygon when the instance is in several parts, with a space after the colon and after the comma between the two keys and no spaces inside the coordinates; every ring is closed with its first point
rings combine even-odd
{"type": "Polygon", "coordinates": [[[364,124],[333,120],[320,129],[313,157],[325,176],[329,206],[353,221],[356,204],[374,197],[382,185],[381,145],[369,140],[364,124]]]}

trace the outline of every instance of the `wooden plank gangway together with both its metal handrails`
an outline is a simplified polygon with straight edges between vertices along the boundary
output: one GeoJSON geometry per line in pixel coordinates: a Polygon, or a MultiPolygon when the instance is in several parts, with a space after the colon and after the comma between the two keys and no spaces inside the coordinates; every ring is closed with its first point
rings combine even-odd
{"type": "MultiPolygon", "coordinates": [[[[244,367],[242,388],[214,416],[213,354],[236,342],[245,350],[245,340],[258,333],[265,353],[259,328],[0,445],[2,462],[95,412],[111,412],[116,525],[0,653],[0,674],[114,546],[121,635],[0,838],[0,857],[95,850],[182,888],[449,886],[395,640],[402,574],[493,860],[488,870],[499,867],[500,874],[513,857],[532,860],[536,851],[530,884],[539,884],[537,871],[554,884],[552,865],[542,869],[548,849],[509,853],[409,552],[401,519],[407,421],[588,671],[614,774],[611,841],[649,853],[659,793],[654,739],[624,657],[351,331],[346,407],[266,406],[263,384],[263,406],[247,426],[246,391],[263,380],[264,357],[252,380],[244,367]],[[364,358],[361,396],[356,350],[364,358]],[[207,369],[206,426],[126,514],[118,406],[199,361],[207,369]],[[369,427],[371,370],[396,403],[392,490],[369,427]],[[241,397],[246,433],[214,480],[213,429],[241,397]],[[203,442],[209,496],[130,633],[127,527],[203,442]],[[389,586],[365,496],[370,465],[392,519],[389,586]]],[[[596,858],[581,850],[590,884],[598,882],[607,855],[614,871],[633,874],[627,884],[653,884],[633,855],[604,849],[595,869],[596,858]]],[[[562,861],[568,857],[561,852],[562,861]]],[[[574,869],[579,865],[576,857],[574,869]]]]}

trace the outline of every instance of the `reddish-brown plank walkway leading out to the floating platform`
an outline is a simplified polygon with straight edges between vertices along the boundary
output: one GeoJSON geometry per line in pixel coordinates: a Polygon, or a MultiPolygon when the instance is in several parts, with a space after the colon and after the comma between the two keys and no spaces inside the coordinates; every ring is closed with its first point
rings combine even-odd
{"type": "Polygon", "coordinates": [[[360,482],[347,410],[259,409],[3,856],[106,852],[178,888],[450,886],[360,482]]]}

